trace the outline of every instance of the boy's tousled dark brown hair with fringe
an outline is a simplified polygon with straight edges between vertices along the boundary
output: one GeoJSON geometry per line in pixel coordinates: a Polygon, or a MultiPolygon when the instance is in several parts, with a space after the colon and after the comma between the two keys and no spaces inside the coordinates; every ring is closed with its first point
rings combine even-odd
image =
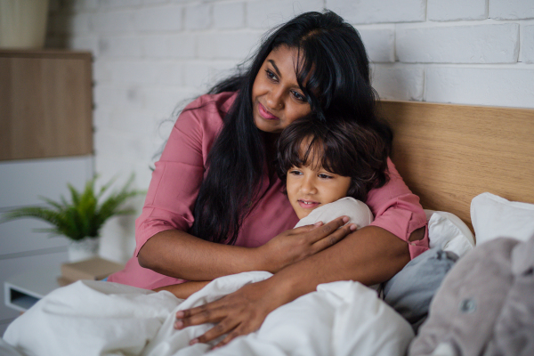
{"type": "Polygon", "coordinates": [[[322,166],[333,174],[351,177],[347,197],[366,201],[368,191],[387,182],[387,143],[375,131],[354,120],[315,114],[295,120],[278,141],[278,174],[286,182],[296,166],[322,166]]]}

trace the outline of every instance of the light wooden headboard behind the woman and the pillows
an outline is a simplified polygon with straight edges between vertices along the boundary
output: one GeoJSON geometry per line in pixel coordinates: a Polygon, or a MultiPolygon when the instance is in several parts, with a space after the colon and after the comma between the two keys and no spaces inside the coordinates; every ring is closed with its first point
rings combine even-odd
{"type": "Polygon", "coordinates": [[[381,101],[392,161],[425,209],[456,214],[489,191],[534,204],[534,109],[381,101]]]}

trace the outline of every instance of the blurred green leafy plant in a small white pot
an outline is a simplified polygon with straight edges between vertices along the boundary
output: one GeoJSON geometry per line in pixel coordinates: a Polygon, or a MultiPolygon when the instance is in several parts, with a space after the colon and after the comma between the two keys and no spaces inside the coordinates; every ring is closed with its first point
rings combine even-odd
{"type": "Polygon", "coordinates": [[[68,184],[70,201],[61,196],[60,201],[39,197],[47,206],[24,206],[13,209],[4,216],[0,223],[25,217],[35,217],[51,223],[53,227],[36,229],[50,232],[53,236],[65,236],[70,240],[69,261],[90,258],[98,253],[101,227],[112,216],[133,214],[134,209],[123,208],[125,201],[142,192],[131,189],[134,182],[132,174],[121,190],[108,192],[115,181],[110,180],[96,191],[94,182],[97,176],[85,184],[85,190],[78,191],[68,184]]]}

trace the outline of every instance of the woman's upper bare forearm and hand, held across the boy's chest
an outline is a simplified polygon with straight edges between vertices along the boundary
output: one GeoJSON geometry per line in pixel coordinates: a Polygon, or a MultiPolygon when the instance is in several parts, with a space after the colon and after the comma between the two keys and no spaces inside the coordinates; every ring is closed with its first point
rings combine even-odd
{"type": "Polygon", "coordinates": [[[344,239],[356,228],[343,226],[347,221],[340,217],[324,225],[284,231],[255,248],[215,244],[183,231],[162,231],[144,244],[138,258],[142,267],[188,280],[212,280],[243,271],[275,273],[344,239]]]}

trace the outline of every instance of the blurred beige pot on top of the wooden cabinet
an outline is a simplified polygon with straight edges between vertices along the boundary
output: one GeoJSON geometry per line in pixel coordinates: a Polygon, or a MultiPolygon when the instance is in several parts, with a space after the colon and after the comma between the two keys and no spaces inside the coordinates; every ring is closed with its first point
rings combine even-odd
{"type": "Polygon", "coordinates": [[[43,48],[48,0],[0,0],[0,47],[43,48]]]}

